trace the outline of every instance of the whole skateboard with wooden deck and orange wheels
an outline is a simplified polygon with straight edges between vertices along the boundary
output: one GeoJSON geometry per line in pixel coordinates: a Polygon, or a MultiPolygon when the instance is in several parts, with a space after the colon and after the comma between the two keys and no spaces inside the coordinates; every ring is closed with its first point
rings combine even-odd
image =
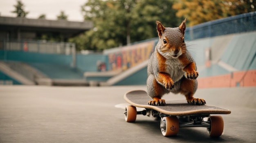
{"type": "Polygon", "coordinates": [[[130,104],[124,112],[127,122],[134,122],[137,115],[153,117],[160,120],[164,136],[175,136],[182,127],[205,127],[210,137],[219,137],[224,130],[224,121],[220,115],[212,114],[231,113],[230,110],[217,106],[188,104],[186,100],[166,101],[165,106],[148,105],[148,101],[152,99],[143,90],[127,92],[124,100],[130,104]],[[136,107],[145,109],[137,111],[136,107]]]}

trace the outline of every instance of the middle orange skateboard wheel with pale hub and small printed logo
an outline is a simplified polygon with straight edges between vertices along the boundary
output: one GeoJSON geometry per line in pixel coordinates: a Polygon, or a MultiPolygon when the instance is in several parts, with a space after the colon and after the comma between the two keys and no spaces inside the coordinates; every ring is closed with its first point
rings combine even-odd
{"type": "Polygon", "coordinates": [[[162,117],[160,129],[165,137],[176,136],[179,132],[179,119],[177,117],[162,117]]]}

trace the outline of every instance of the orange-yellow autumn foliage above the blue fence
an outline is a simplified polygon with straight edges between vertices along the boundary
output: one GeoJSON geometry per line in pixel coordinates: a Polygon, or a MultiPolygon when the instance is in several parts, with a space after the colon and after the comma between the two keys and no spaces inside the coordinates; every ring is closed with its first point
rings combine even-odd
{"type": "Polygon", "coordinates": [[[173,4],[177,17],[186,17],[189,26],[255,11],[256,0],[180,0],[173,4]]]}

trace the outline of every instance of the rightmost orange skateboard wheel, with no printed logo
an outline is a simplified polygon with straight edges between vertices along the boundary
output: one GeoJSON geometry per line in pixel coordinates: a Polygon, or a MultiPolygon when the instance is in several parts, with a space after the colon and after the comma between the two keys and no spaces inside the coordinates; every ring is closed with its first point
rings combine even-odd
{"type": "Polygon", "coordinates": [[[220,137],[224,130],[224,121],[221,116],[210,116],[208,121],[211,123],[211,127],[207,128],[207,132],[210,137],[220,137]]]}

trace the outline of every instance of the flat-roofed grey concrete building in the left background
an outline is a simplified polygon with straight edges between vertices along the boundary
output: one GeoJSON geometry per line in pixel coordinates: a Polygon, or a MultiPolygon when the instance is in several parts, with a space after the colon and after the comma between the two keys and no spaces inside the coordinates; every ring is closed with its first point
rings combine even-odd
{"type": "Polygon", "coordinates": [[[60,34],[67,41],[93,27],[92,22],[70,22],[67,20],[28,19],[23,17],[0,17],[0,39],[36,39],[44,33],[60,34]]]}

